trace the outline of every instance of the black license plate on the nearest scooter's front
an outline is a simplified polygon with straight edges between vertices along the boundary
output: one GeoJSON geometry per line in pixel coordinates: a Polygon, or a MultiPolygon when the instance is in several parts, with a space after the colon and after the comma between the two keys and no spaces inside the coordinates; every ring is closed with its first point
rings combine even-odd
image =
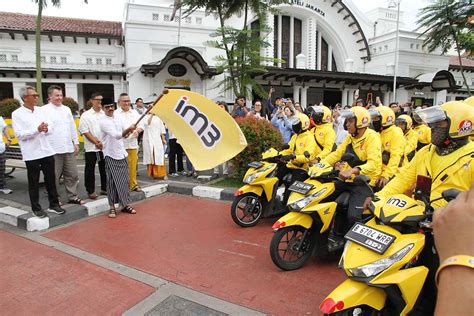
{"type": "Polygon", "coordinates": [[[387,251],[395,241],[395,236],[360,223],[354,224],[345,238],[379,254],[387,251]]]}

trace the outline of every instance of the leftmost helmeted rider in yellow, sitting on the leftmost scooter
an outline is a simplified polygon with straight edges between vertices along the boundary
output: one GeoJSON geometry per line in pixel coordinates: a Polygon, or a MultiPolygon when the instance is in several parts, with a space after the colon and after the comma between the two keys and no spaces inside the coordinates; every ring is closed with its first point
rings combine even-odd
{"type": "MultiPolygon", "coordinates": [[[[290,119],[293,132],[288,142],[288,149],[281,151],[281,159],[287,161],[285,166],[278,169],[277,177],[280,183],[287,174],[291,174],[291,181],[287,185],[291,185],[295,181],[304,181],[308,175],[309,162],[316,157],[316,142],[313,134],[308,130],[309,118],[307,115],[297,113],[290,119]]],[[[283,195],[283,203],[286,205],[290,192],[285,191],[283,195]]]]}

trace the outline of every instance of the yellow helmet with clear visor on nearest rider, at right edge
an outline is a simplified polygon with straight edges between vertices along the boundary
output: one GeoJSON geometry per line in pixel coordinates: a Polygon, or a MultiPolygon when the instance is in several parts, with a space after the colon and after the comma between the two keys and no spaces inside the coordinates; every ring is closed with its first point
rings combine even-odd
{"type": "Polygon", "coordinates": [[[432,106],[416,112],[427,124],[447,120],[449,137],[460,138],[474,135],[474,107],[462,101],[450,101],[441,106],[432,106]]]}

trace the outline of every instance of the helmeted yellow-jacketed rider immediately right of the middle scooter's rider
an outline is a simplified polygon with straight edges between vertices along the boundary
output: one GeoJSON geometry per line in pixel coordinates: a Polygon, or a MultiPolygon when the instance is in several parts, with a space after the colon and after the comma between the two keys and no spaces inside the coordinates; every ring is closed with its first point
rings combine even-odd
{"type": "Polygon", "coordinates": [[[395,113],[387,106],[379,106],[370,110],[373,129],[380,133],[382,142],[382,174],[376,186],[383,188],[398,172],[403,163],[405,153],[405,137],[395,123],[395,113]]]}

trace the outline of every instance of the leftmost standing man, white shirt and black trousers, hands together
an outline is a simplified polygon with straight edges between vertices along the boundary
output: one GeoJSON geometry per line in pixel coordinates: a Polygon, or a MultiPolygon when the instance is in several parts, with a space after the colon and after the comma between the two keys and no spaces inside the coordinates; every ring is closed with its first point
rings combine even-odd
{"type": "Polygon", "coordinates": [[[43,171],[48,192],[48,211],[64,214],[66,211],[59,206],[58,192],[56,191],[54,149],[48,142],[48,137],[54,127],[48,121],[44,110],[36,106],[39,95],[35,88],[25,86],[20,89],[19,95],[24,104],[13,111],[12,123],[16,138],[20,143],[23,161],[26,164],[31,209],[33,214],[38,217],[46,216],[39,204],[39,176],[40,171],[43,171]]]}

